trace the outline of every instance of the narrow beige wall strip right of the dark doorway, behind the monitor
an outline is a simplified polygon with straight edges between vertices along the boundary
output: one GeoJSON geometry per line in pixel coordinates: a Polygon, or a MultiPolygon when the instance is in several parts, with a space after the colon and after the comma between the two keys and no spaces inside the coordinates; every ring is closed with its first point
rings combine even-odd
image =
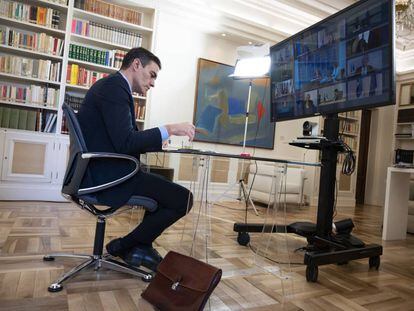
{"type": "Polygon", "coordinates": [[[372,110],[365,203],[384,205],[387,167],[392,163],[394,106],[372,110]]]}

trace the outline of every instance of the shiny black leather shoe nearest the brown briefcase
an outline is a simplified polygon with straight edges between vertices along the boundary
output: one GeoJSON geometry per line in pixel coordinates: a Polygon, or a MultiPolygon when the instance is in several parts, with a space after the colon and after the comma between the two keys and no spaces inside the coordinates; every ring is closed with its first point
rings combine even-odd
{"type": "Polygon", "coordinates": [[[162,260],[161,255],[151,246],[135,246],[121,258],[129,265],[144,266],[154,272],[162,260]]]}

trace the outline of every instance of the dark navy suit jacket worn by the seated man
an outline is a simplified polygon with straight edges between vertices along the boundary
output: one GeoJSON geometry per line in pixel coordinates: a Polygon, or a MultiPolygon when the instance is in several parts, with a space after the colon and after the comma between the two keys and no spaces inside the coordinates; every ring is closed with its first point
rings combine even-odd
{"type": "MultiPolygon", "coordinates": [[[[97,81],[86,93],[78,120],[89,152],[113,152],[137,157],[147,151],[161,150],[158,128],[139,131],[135,124],[134,102],[127,81],[117,72],[97,81]]],[[[103,184],[131,172],[134,165],[126,160],[89,162],[82,187],[103,184]]],[[[124,205],[134,191],[134,178],[98,193],[105,205],[124,205]]]]}

